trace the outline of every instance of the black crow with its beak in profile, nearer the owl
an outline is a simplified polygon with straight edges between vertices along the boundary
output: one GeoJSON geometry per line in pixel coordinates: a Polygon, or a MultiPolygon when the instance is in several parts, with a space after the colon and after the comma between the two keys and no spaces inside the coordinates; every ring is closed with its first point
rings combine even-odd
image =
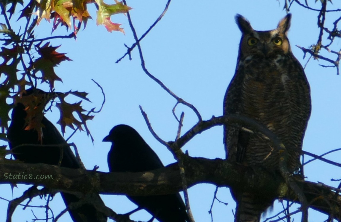
{"type": "MultiPolygon", "coordinates": [[[[130,126],[115,126],[103,141],[113,142],[108,153],[110,172],[143,172],[164,166],[150,146],[130,126]]],[[[178,193],[127,197],[161,222],[189,221],[186,207],[178,193]]]]}

